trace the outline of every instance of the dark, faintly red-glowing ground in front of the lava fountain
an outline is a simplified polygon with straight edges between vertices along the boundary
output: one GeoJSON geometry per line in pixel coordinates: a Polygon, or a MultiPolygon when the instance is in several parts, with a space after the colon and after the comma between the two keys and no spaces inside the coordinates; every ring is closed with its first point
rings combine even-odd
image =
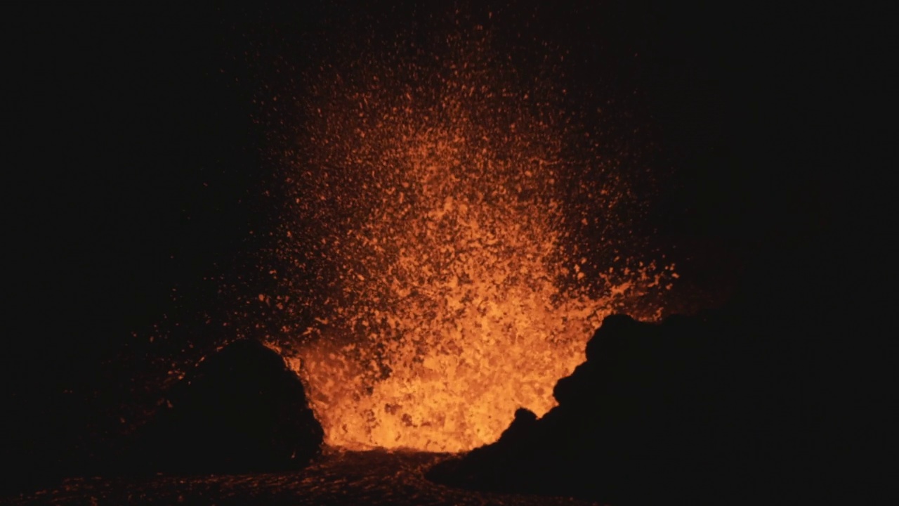
{"type": "Polygon", "coordinates": [[[430,453],[326,452],[306,469],[270,474],[72,478],[8,504],[506,504],[582,505],[560,497],[469,492],[426,480],[448,458],[430,453]]]}

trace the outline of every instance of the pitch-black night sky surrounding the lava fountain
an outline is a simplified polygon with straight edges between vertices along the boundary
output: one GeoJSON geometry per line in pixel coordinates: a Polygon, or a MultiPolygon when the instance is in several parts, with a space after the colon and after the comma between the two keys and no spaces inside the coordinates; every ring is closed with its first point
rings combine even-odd
{"type": "MultiPolygon", "coordinates": [[[[877,357],[892,348],[869,339],[876,325],[856,323],[888,314],[892,295],[877,292],[895,290],[888,18],[859,7],[717,4],[514,11],[572,48],[566,78],[577,86],[638,95],[672,173],[659,237],[738,258],[734,301],[745,307],[853,322],[797,334],[793,345],[807,352],[797,375],[821,438],[877,444],[859,429],[891,402],[874,385],[886,383],[877,357]]],[[[266,132],[253,119],[266,51],[302,52],[309,38],[372,17],[390,31],[445,15],[426,5],[6,9],[2,379],[15,429],[4,446],[43,468],[77,438],[66,413],[102,391],[99,365],[174,312],[178,290],[236,268],[258,246],[271,210],[266,132]]],[[[308,50],[298,65],[323,49],[308,50]]],[[[188,305],[203,311],[199,298],[188,305]]]]}

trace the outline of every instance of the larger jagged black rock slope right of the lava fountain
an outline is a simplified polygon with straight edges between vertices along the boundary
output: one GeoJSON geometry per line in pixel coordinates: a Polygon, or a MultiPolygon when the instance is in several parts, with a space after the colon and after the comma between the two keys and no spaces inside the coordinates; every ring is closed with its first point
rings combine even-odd
{"type": "Polygon", "coordinates": [[[556,408],[540,420],[520,410],[496,443],[429,477],[613,504],[795,499],[798,417],[778,366],[788,350],[737,320],[610,316],[556,384],[556,408]]]}

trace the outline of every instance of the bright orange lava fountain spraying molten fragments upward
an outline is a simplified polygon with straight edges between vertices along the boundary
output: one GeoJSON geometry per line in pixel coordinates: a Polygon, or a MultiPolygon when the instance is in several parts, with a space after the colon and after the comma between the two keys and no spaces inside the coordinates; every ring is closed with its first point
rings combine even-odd
{"type": "Polygon", "coordinates": [[[298,126],[273,142],[278,288],[259,300],[289,321],[270,345],[330,445],[492,442],[555,405],[605,315],[658,317],[645,295],[676,276],[576,246],[628,227],[627,167],[566,113],[560,59],[524,77],[476,39],[325,64],[271,97],[298,126]]]}

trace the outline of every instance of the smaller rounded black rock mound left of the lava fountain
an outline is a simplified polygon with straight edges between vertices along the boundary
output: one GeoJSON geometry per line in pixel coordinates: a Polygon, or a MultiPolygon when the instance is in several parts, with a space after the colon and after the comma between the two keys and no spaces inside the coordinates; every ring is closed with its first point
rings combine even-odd
{"type": "Polygon", "coordinates": [[[306,465],[323,430],[274,351],[239,340],[177,384],[129,459],[151,472],[228,473],[306,465]]]}

